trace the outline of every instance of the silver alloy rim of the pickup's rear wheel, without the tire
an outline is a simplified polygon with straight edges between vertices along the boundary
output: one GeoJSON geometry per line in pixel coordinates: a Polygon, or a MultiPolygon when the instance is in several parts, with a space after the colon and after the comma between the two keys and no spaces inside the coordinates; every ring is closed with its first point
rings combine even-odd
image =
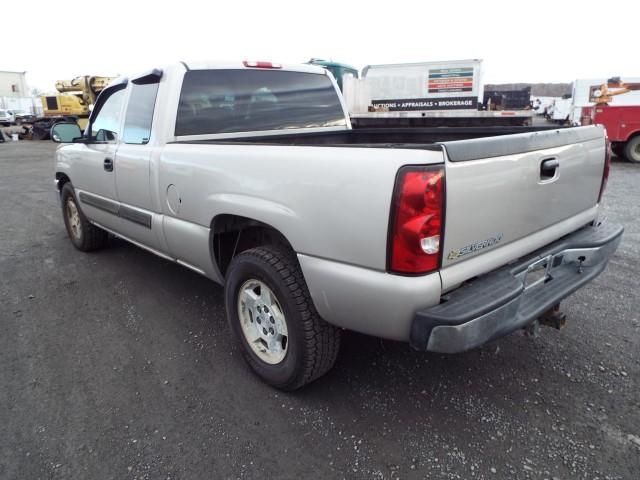
{"type": "Polygon", "coordinates": [[[280,302],[262,281],[247,280],[238,293],[238,317],[242,334],[260,360],[275,365],[289,348],[287,322],[280,302]]]}

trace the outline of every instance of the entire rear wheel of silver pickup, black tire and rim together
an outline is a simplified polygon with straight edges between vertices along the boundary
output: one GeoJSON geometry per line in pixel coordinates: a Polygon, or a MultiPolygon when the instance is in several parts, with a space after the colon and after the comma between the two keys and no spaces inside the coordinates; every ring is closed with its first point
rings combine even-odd
{"type": "Polygon", "coordinates": [[[245,359],[266,383],[295,390],[333,366],[340,330],[316,312],[298,261],[288,249],[264,246],[234,257],[225,305],[245,359]]]}

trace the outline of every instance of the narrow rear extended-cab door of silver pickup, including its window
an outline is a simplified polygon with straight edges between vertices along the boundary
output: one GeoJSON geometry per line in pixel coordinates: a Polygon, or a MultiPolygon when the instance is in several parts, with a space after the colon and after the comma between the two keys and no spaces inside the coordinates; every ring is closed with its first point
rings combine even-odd
{"type": "Polygon", "coordinates": [[[120,233],[147,247],[163,250],[159,216],[151,198],[151,124],[160,73],[134,79],[130,84],[124,127],[116,152],[116,190],[120,202],[120,233]],[[154,225],[154,219],[156,223],[154,225]]]}

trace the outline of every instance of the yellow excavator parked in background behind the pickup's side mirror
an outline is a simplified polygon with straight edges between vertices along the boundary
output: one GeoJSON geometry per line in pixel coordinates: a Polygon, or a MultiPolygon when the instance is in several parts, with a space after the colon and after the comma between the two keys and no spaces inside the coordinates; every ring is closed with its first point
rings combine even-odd
{"type": "Polygon", "coordinates": [[[31,136],[35,140],[49,138],[51,127],[56,123],[74,121],[82,130],[89,121],[90,106],[114,77],[84,75],[71,80],[58,80],[58,95],[40,97],[44,116],[36,119],[31,126],[31,136]]]}

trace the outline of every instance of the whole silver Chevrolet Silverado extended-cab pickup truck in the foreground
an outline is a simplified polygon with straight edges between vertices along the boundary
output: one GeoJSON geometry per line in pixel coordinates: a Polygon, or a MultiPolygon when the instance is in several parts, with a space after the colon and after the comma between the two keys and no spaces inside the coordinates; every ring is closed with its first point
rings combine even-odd
{"type": "Polygon", "coordinates": [[[603,271],[605,132],[513,131],[351,129],[325,70],[238,62],[120,78],[52,138],[73,244],[112,234],[223,284],[249,365],[290,390],[342,329],[462,352],[603,271]]]}

